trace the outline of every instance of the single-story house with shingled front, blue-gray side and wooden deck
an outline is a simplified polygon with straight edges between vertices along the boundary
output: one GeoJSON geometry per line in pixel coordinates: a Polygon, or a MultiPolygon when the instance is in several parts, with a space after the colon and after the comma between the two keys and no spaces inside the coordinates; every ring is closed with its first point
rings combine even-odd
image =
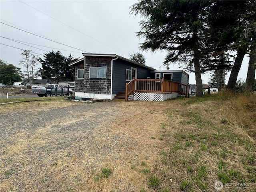
{"type": "Polygon", "coordinates": [[[166,100],[188,95],[183,70],[158,71],[116,54],[84,53],[75,68],[75,96],[120,100],[166,100]]]}

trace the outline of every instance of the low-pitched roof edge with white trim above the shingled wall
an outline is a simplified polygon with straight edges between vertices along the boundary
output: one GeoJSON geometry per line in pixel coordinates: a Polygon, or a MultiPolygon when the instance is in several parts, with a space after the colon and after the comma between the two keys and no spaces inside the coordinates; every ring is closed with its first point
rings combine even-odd
{"type": "MultiPolygon", "coordinates": [[[[152,67],[149,67],[149,66],[140,64],[140,63],[135,62],[135,61],[130,60],[130,59],[126,59],[126,58],[124,58],[124,57],[122,57],[122,56],[119,56],[119,55],[117,55],[117,54],[83,53],[82,55],[85,56],[85,57],[86,57],[86,56],[95,56],[95,57],[113,57],[113,58],[119,58],[119,59],[121,59],[121,60],[128,61],[128,62],[130,62],[130,63],[136,64],[136,65],[138,65],[138,66],[142,66],[142,67],[147,68],[147,69],[150,69],[150,70],[156,70],[156,69],[154,69],[154,68],[152,68],[152,67]]],[[[78,59],[78,60],[76,60],[76,61],[74,61],[74,62],[68,64],[68,66],[72,66],[72,65],[77,64],[77,63],[82,62],[82,61],[84,61],[84,58],[80,58],[80,59],[78,59]]]]}

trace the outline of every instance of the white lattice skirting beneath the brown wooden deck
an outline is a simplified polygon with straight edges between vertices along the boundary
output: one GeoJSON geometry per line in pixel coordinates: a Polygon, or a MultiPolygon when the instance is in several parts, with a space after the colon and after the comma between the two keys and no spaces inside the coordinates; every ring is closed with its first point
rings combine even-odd
{"type": "Polygon", "coordinates": [[[133,100],[140,101],[165,101],[178,97],[178,93],[140,93],[134,92],[133,100]]]}

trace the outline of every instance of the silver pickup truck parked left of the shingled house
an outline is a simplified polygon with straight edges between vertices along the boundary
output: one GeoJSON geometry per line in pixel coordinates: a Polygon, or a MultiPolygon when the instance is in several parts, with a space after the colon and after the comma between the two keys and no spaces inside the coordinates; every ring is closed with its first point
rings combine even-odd
{"type": "Polygon", "coordinates": [[[50,84],[47,87],[42,87],[42,86],[32,86],[32,93],[37,94],[39,97],[50,97],[52,95],[68,95],[71,96],[73,94],[73,89],[72,88],[65,88],[62,85],[58,84],[50,84]]]}

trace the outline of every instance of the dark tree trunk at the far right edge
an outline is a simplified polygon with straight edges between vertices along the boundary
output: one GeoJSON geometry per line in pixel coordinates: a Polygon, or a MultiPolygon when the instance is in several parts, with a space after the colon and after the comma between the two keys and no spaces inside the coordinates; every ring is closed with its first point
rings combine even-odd
{"type": "MultiPolygon", "coordinates": [[[[256,50],[254,50],[256,51],[256,50]]],[[[254,79],[255,79],[255,69],[256,69],[256,53],[253,52],[250,54],[249,66],[247,71],[246,78],[246,91],[253,92],[254,91],[254,79]]]]}

